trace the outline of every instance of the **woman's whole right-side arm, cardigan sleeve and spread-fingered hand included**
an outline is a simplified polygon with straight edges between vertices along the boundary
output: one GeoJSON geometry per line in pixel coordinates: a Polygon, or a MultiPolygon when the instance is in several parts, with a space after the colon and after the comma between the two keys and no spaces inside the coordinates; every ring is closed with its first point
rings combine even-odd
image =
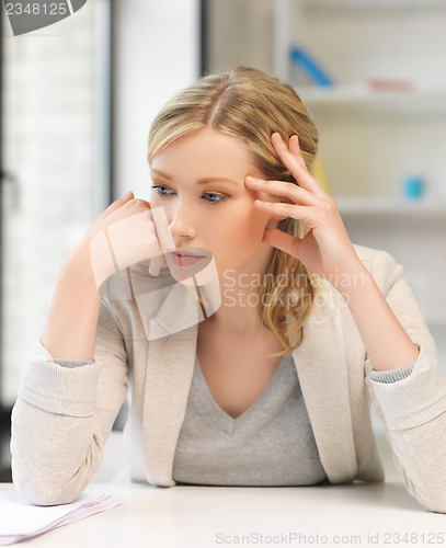
{"type": "Polygon", "coordinates": [[[381,264],[392,279],[384,294],[359,264],[335,201],[305,164],[298,137],[291,136],[287,146],[273,134],[272,144],[298,184],[248,178],[245,184],[287,198],[256,204],[274,216],[301,220],[309,231],[299,239],[267,228],[263,241],[296,256],[344,295],[367,351],[366,368],[390,375],[414,364],[405,378],[387,384],[368,377],[366,383],[408,492],[428,510],[446,513],[446,376],[416,300],[390,255],[381,264]],[[347,281],[346,287],[338,279],[347,281]]]}

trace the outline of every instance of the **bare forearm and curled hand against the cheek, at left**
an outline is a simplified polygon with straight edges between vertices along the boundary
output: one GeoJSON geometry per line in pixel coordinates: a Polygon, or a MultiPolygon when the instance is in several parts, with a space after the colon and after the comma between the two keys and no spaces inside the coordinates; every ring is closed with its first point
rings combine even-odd
{"type": "Polygon", "coordinates": [[[160,253],[150,204],[134,199],[131,192],[113,202],[62,265],[42,336],[42,344],[49,354],[59,358],[93,359],[101,305],[100,281],[95,278],[95,273],[100,272],[106,279],[114,274],[116,263],[124,269],[149,256],[160,256],[160,253]],[[118,230],[116,227],[119,227],[118,230]],[[116,232],[113,240],[111,235],[116,232]],[[121,236],[124,232],[125,236],[121,236]],[[108,254],[92,256],[91,243],[99,237],[108,241],[108,244],[105,243],[108,254]],[[110,255],[112,252],[113,258],[110,255]],[[116,256],[119,252],[121,256],[116,256]]]}

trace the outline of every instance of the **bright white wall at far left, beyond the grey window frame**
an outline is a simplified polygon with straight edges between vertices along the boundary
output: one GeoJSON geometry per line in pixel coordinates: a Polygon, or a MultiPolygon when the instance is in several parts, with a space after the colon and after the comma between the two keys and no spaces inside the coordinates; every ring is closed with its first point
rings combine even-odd
{"type": "Polygon", "coordinates": [[[1,397],[15,400],[68,251],[93,219],[95,20],[99,0],[52,26],[13,36],[4,16],[1,397]]]}

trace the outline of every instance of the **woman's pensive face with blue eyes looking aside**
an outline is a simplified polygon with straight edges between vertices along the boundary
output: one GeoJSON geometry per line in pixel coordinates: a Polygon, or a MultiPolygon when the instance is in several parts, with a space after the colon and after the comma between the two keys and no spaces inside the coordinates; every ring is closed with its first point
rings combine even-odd
{"type": "Polygon", "coordinates": [[[247,175],[264,179],[245,145],[209,128],[172,141],[151,162],[151,207],[164,208],[179,252],[210,252],[219,276],[263,273],[273,251],[262,238],[277,219],[254,199],[279,198],[249,190],[247,175]]]}

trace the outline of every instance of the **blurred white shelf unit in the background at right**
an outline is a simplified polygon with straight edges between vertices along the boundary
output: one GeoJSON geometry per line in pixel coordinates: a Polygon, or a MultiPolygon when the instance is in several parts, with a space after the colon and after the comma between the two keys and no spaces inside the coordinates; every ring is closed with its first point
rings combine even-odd
{"type": "Polygon", "coordinates": [[[404,266],[446,369],[446,2],[274,5],[275,70],[315,119],[347,232],[404,266]],[[309,52],[335,84],[317,88],[301,78],[288,60],[290,45],[309,52]],[[376,91],[377,80],[400,91],[376,91]],[[408,176],[426,183],[418,201],[403,197],[408,176]]]}

